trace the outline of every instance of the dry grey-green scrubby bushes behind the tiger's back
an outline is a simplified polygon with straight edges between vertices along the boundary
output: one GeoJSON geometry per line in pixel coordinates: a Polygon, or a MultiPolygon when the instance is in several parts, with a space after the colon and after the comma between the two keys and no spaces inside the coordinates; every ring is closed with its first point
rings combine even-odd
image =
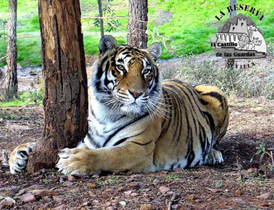
{"type": "Polygon", "coordinates": [[[240,97],[264,96],[274,99],[274,68],[271,65],[265,69],[258,63],[250,69],[228,69],[219,60],[201,61],[193,55],[182,59],[184,66],[177,77],[190,84],[213,84],[227,95],[234,93],[240,97]]]}

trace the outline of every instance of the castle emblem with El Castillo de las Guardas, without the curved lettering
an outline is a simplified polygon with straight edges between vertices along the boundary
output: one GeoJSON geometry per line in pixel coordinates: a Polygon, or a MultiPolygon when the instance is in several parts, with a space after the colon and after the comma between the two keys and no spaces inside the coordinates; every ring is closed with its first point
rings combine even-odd
{"type": "Polygon", "coordinates": [[[260,28],[251,18],[238,14],[228,19],[212,38],[216,56],[223,58],[264,58],[266,43],[260,28]]]}

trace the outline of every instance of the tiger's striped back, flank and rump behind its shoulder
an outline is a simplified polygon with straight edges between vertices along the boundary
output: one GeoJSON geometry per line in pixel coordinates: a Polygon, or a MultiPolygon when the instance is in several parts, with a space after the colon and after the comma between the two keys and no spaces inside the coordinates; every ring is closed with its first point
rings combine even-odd
{"type": "Polygon", "coordinates": [[[203,165],[225,135],[228,104],[216,86],[193,88],[179,80],[162,82],[166,116],[154,159],[165,170],[203,165]],[[165,155],[166,154],[166,155],[165,155]]]}

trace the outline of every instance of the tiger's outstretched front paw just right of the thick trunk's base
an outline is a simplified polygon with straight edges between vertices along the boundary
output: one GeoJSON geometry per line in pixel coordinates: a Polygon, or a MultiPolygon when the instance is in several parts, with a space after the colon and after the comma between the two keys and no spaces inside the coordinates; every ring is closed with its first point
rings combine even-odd
{"type": "Polygon", "coordinates": [[[60,160],[55,165],[62,174],[89,174],[95,172],[90,150],[65,148],[60,151],[60,160]]]}

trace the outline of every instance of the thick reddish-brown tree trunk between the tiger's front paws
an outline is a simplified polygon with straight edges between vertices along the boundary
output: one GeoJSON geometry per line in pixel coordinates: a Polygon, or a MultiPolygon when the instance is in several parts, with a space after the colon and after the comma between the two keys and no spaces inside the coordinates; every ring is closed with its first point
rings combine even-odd
{"type": "Polygon", "coordinates": [[[29,155],[28,172],[52,168],[62,148],[87,132],[88,90],[79,0],[39,0],[45,129],[29,155]]]}

